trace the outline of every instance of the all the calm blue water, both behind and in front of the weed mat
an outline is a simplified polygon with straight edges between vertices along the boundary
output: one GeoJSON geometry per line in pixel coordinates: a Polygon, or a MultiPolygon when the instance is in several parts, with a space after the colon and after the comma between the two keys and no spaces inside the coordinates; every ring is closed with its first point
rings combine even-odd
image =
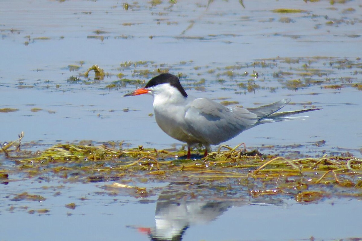
{"type": "MultiPolygon", "coordinates": [[[[164,134],[148,115],[153,112],[151,96],[122,98],[143,86],[157,70],[167,70],[182,74],[182,85],[194,96],[227,98],[244,107],[291,98],[295,104],[284,107],[285,111],[323,108],[309,112],[303,121],[258,126],[225,144],[245,142],[248,148],[280,155],[350,152],[361,157],[362,20],[358,1],[334,5],[330,1],[244,1],[245,8],[239,1],[213,1],[208,7],[207,1],[129,4],[126,10],[123,2],[108,0],[3,1],[0,109],[18,111],[0,113],[0,141],[12,141],[24,131],[23,142],[36,141],[39,145],[33,148],[39,150],[83,139],[125,141],[124,147],[180,148],[182,143],[164,134]],[[304,11],[272,11],[280,8],[304,11]],[[128,61],[131,64],[125,66],[128,61]],[[82,75],[94,64],[108,73],[104,80],[82,75]],[[258,78],[252,76],[253,71],[258,78]],[[119,73],[124,75],[121,78],[139,81],[119,82],[119,73]],[[72,76],[80,80],[69,81],[72,76]],[[202,78],[205,82],[199,82],[202,78]],[[107,87],[114,81],[118,81],[116,87],[107,87]],[[322,140],[325,144],[316,145],[322,140]]],[[[8,220],[1,226],[1,240],[148,240],[146,234],[126,226],[156,230],[156,202],[162,191],[141,204],[122,192],[115,197],[102,193],[103,184],[62,184],[49,178],[46,185],[64,187],[39,189],[44,181],[39,184],[31,179],[0,185],[4,200],[0,215],[8,220]],[[58,189],[62,194],[52,197],[58,189]],[[47,200],[10,201],[24,191],[47,200]],[[90,200],[80,201],[81,197],[90,200]],[[64,207],[72,202],[79,205],[75,210],[64,207]],[[28,214],[30,209],[41,208],[50,212],[28,214]],[[20,219],[49,232],[39,233],[26,225],[20,233],[13,225],[20,219]]],[[[202,202],[186,199],[181,207],[216,202],[223,211],[212,212],[216,220],[211,221],[210,215],[211,220],[202,224],[199,219],[206,218],[196,215],[196,221],[186,220],[190,228],[183,240],[362,236],[358,221],[350,215],[360,206],[355,199],[327,198],[300,205],[285,197],[262,203],[246,196],[235,200],[206,193],[202,198],[202,202]],[[348,222],[339,221],[338,229],[326,232],[331,220],[348,222]]]]}

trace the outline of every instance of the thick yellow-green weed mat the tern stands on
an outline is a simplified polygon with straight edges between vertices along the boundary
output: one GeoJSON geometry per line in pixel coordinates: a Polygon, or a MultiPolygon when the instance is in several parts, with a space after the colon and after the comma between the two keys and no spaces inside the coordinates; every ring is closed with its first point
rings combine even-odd
{"type": "MultiPolygon", "coordinates": [[[[144,149],[142,146],[123,150],[122,143],[113,142],[100,146],[57,144],[33,153],[21,150],[23,136],[22,133],[19,139],[1,147],[2,184],[19,178],[117,181],[108,186],[134,190],[135,197],[147,196],[146,189],[127,184],[131,178],[151,183],[212,183],[226,191],[244,190],[245,195],[252,197],[282,195],[294,197],[298,202],[326,197],[362,198],[362,159],[348,154],[292,159],[261,154],[257,150],[245,152],[239,150],[239,146],[233,149],[221,146],[205,158],[186,160],[184,150],[144,149]]],[[[129,195],[129,190],[126,193],[129,195]]],[[[43,199],[28,193],[13,198],[43,199]]]]}

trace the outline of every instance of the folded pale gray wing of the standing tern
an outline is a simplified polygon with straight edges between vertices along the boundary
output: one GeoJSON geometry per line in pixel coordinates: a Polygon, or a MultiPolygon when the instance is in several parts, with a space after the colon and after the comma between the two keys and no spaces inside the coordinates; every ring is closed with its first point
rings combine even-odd
{"type": "Polygon", "coordinates": [[[257,121],[257,115],[247,109],[229,108],[207,98],[194,99],[185,112],[186,131],[210,145],[235,137],[257,121]]]}

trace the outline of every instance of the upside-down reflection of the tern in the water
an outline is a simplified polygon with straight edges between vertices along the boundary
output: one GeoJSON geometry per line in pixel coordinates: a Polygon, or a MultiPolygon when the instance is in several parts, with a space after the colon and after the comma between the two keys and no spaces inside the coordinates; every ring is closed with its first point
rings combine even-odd
{"type": "Polygon", "coordinates": [[[190,183],[172,182],[164,187],[157,199],[154,227],[130,228],[146,234],[151,241],[181,241],[189,227],[210,223],[233,207],[287,205],[280,197],[265,198],[262,195],[250,198],[252,187],[227,192],[217,189],[217,182],[207,185],[190,183]]]}

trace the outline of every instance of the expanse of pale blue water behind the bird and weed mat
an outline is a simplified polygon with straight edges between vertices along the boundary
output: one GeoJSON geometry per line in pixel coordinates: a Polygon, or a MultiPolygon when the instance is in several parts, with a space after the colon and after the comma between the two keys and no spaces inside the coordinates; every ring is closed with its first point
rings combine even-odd
{"type": "Polygon", "coordinates": [[[7,1],[5,5],[1,10],[0,54],[7,61],[1,64],[1,108],[20,111],[1,113],[4,123],[12,123],[3,130],[4,140],[24,131],[24,141],[124,140],[134,146],[150,143],[158,149],[167,148],[178,142],[160,132],[154,117],[148,116],[152,113],[151,97],[122,98],[142,84],[105,87],[117,81],[119,73],[147,81],[157,69],[167,69],[186,76],[182,84],[195,96],[226,97],[244,107],[290,97],[296,106],[285,110],[304,108],[304,103],[324,108],[310,113],[306,121],[258,126],[228,141],[229,145],[307,145],[325,140],[318,154],[338,152],[338,147],[353,149],[355,155],[360,152],[356,149],[361,148],[362,129],[354,123],[361,117],[357,111],[361,91],[350,87],[351,83],[361,85],[361,60],[356,59],[361,19],[355,1],[334,5],[328,1],[275,1],[263,8],[258,1],[250,1],[245,9],[238,1],[215,1],[209,8],[206,3],[187,1],[155,6],[142,2],[131,4],[127,11],[122,3],[108,1],[7,1]],[[54,8],[55,12],[49,11],[54,8]],[[271,11],[279,8],[304,12],[271,11]],[[346,10],[350,8],[355,10],[346,10]],[[290,18],[289,23],[285,18],[290,18]],[[89,38],[97,36],[93,33],[96,30],[106,32],[98,35],[103,40],[89,38]],[[49,39],[36,39],[39,37],[49,39]],[[278,56],[282,59],[275,59],[278,56]],[[263,60],[264,66],[260,64],[263,60]],[[122,68],[120,64],[127,61],[147,63],[122,68]],[[104,81],[80,77],[87,83],[66,81],[93,64],[109,77],[104,81]],[[308,67],[303,69],[303,64],[308,67]],[[69,65],[77,65],[79,70],[69,65]],[[253,71],[258,72],[258,79],[250,76],[253,71]],[[243,77],[244,72],[249,74],[243,77]],[[282,81],[311,79],[315,83],[286,89],[276,81],[275,74],[280,72],[288,72],[279,74],[282,81]],[[193,89],[201,78],[205,83],[193,89]],[[261,88],[245,92],[239,87],[240,82],[247,85],[249,80],[261,88]],[[331,84],[348,85],[323,89],[331,84]],[[32,108],[44,111],[31,112],[32,108]],[[137,111],[124,112],[127,108],[137,111]]]}

